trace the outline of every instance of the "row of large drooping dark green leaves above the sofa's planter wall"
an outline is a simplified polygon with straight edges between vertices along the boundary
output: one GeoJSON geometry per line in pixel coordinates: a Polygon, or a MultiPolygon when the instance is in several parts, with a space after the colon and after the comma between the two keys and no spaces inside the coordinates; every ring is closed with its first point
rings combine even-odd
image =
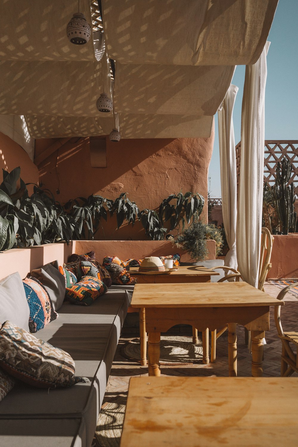
{"type": "MultiPolygon", "coordinates": [[[[122,223],[141,221],[146,235],[151,240],[164,239],[170,223],[170,230],[182,229],[185,222],[197,221],[201,214],[204,198],[190,192],[184,195],[171,194],[164,199],[159,211],[139,210],[130,201],[127,193],[122,193],[114,201],[100,195],[71,199],[64,205],[55,200],[50,190],[34,185],[29,197],[27,186],[20,178],[20,168],[11,173],[3,171],[0,185],[0,250],[13,247],[28,247],[72,239],[93,239],[102,228],[101,219],[116,215],[117,229],[122,223]],[[18,181],[20,182],[19,186],[18,181]]],[[[103,230],[103,228],[102,228],[103,230]]]]}

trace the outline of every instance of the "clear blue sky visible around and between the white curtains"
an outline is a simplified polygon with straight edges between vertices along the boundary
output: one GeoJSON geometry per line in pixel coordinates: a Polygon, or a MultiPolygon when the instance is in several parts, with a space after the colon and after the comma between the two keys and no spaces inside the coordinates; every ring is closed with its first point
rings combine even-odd
{"type": "MultiPolygon", "coordinates": [[[[265,91],[265,139],[298,139],[298,0],[279,0],[268,40],[265,91]]],[[[239,87],[233,123],[235,143],[241,135],[241,105],[245,66],[236,67],[232,84],[239,87]]],[[[209,167],[210,196],[221,197],[218,121],[209,167]]],[[[209,188],[209,183],[208,183],[209,188]]]]}

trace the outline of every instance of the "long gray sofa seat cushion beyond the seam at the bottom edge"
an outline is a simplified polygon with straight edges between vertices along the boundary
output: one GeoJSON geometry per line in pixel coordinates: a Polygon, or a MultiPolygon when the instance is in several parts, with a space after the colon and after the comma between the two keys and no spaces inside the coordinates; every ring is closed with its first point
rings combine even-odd
{"type": "Polygon", "coordinates": [[[17,383],[5,405],[0,405],[0,418],[84,417],[90,446],[127,308],[125,290],[108,290],[90,307],[64,302],[59,318],[37,336],[67,351],[75,361],[76,375],[88,377],[90,383],[49,392],[17,383]]]}

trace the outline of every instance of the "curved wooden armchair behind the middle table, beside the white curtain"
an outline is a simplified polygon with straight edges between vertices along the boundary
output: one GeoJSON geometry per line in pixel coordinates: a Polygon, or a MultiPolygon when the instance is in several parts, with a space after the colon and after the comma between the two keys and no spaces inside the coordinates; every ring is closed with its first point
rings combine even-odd
{"type": "MultiPolygon", "coordinates": [[[[263,292],[264,292],[264,282],[266,280],[269,270],[272,267],[270,259],[271,259],[273,240],[274,240],[274,237],[269,232],[268,228],[262,227],[258,289],[263,292]]],[[[210,270],[215,270],[215,269],[223,269],[225,272],[231,270],[234,272],[234,274],[239,274],[239,276],[240,276],[240,273],[238,272],[238,270],[232,269],[231,267],[228,267],[228,266],[213,267],[210,270]]],[[[219,281],[220,282],[225,281],[226,279],[229,279],[230,277],[233,278],[233,276],[234,276],[233,274],[229,274],[229,275],[225,276],[224,278],[220,279],[219,281]]],[[[240,278],[235,279],[235,280],[239,281],[239,279],[240,278]]],[[[215,362],[215,358],[216,358],[216,340],[226,330],[227,330],[227,326],[225,326],[218,332],[216,331],[216,329],[214,331],[211,331],[211,358],[210,358],[211,363],[215,362]]],[[[244,330],[245,330],[245,344],[250,346],[251,345],[250,333],[246,328],[244,328],[244,330]]]]}

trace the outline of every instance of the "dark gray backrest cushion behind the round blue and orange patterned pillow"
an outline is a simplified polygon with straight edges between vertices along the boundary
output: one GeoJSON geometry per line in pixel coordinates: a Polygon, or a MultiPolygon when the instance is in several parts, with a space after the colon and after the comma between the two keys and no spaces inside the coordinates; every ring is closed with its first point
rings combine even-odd
{"type": "Polygon", "coordinates": [[[53,308],[57,312],[63,304],[66,286],[64,276],[58,270],[58,261],[53,264],[46,264],[40,269],[32,270],[31,276],[37,278],[46,288],[52,300],[53,308]]]}

